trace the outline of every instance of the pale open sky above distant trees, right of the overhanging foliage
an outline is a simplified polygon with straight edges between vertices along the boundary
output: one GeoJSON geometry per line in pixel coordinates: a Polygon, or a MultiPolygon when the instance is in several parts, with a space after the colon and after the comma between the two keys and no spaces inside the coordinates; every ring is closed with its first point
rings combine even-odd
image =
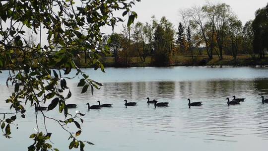
{"type": "MultiPolygon", "coordinates": [[[[268,0],[207,0],[209,2],[217,3],[224,2],[231,6],[238,18],[246,23],[247,20],[254,19],[255,11],[259,8],[265,7],[268,0]]],[[[154,14],[157,19],[166,16],[177,28],[180,16],[179,9],[189,8],[194,5],[203,5],[206,0],[141,0],[136,2],[133,10],[138,14],[138,21],[149,22],[151,16],[154,14]]],[[[121,13],[120,13],[121,14],[121,13]]],[[[119,14],[119,15],[120,15],[119,14]]],[[[136,22],[136,21],[135,21],[136,22]]],[[[122,30],[122,23],[115,28],[115,32],[122,30]]],[[[104,32],[111,33],[111,28],[105,28],[104,32]]]]}

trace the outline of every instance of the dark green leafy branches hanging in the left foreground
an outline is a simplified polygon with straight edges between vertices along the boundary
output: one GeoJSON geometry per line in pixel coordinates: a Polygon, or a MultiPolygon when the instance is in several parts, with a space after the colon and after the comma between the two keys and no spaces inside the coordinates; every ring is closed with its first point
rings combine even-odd
{"type": "MultiPolygon", "coordinates": [[[[67,131],[71,139],[69,149],[80,148],[83,151],[84,143],[92,145],[77,138],[81,134],[79,123],[83,122],[80,116],[84,114],[77,112],[71,115],[68,112],[66,101],[71,97],[71,91],[67,79],[74,78],[69,77],[71,70],[76,72],[75,76],[81,77],[77,86],[83,87],[82,93],[90,88],[93,94],[94,88],[99,89],[102,84],[83,73],[73,58],[77,52],[91,52],[89,65],[104,72],[104,67],[98,60],[98,52],[107,54],[109,47],[99,47],[102,42],[101,27],[111,26],[113,29],[117,22],[123,21],[113,15],[117,10],[123,10],[123,16],[129,14],[128,25],[131,25],[137,17],[131,11],[135,1],[140,0],[0,1],[0,68],[9,71],[6,85],[14,86],[11,96],[5,101],[10,104],[13,112],[1,113],[4,115],[0,120],[4,137],[10,138],[11,125],[15,124],[17,113],[25,118],[25,105],[32,106],[36,103],[39,107],[49,104],[48,110],[55,110],[58,106],[65,119],[48,117],[43,111],[36,114],[41,113],[44,121],[53,120],[67,131]],[[41,42],[28,44],[24,36],[26,29],[31,29],[36,34],[46,31],[48,45],[42,45],[41,42]],[[55,45],[60,46],[57,52],[54,51],[55,45]],[[63,95],[65,91],[67,96],[63,95]],[[68,124],[74,124],[79,131],[73,135],[64,127],[68,124]]],[[[53,149],[48,142],[52,133],[48,132],[46,126],[45,129],[46,132],[43,133],[37,128],[37,133],[30,135],[34,143],[29,146],[29,151],[53,149]]]]}

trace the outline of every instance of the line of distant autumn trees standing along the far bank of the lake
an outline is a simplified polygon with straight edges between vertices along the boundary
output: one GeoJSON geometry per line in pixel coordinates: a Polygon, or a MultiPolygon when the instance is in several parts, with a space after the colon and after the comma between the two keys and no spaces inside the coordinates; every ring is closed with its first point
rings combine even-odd
{"type": "MultiPolygon", "coordinates": [[[[118,65],[128,65],[132,57],[145,62],[152,57],[154,65],[172,63],[172,56],[207,55],[208,60],[218,56],[250,54],[265,57],[268,49],[268,5],[255,13],[255,19],[243,26],[242,21],[225,3],[209,3],[180,11],[177,30],[166,18],[137,22],[121,33],[104,36],[118,65]]],[[[105,45],[104,45],[105,46],[105,45]]]]}

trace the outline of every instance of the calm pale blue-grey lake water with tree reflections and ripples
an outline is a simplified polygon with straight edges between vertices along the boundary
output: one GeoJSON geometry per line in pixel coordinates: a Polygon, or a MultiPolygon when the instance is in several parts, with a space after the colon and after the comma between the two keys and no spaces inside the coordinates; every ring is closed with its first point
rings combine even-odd
{"type": "MultiPolygon", "coordinates": [[[[268,97],[268,68],[127,68],[106,69],[106,73],[84,70],[104,86],[81,94],[77,79],[68,81],[72,97],[68,103],[77,103],[75,113],[83,117],[81,140],[93,142],[85,151],[267,151],[268,104],[262,104],[260,95],[268,97]],[[240,105],[227,106],[226,97],[246,98],[240,105]],[[170,102],[169,107],[147,105],[146,97],[170,102]],[[188,107],[187,99],[202,101],[201,107],[188,107]],[[124,100],[138,102],[126,108],[124,100]],[[85,105],[112,103],[112,108],[87,110],[85,105]]],[[[9,107],[4,100],[13,90],[4,83],[6,72],[0,75],[0,112],[9,107]]],[[[72,73],[75,74],[75,73],[72,73]]],[[[45,104],[44,106],[48,106],[45,104]]],[[[29,107],[28,107],[29,109],[29,107]]],[[[48,116],[64,119],[60,113],[48,116]]],[[[38,115],[43,126],[43,119],[38,115]]],[[[19,129],[12,129],[12,139],[0,138],[0,151],[25,151],[36,133],[34,108],[27,110],[26,118],[18,118],[19,129]]],[[[68,150],[68,135],[56,123],[47,120],[52,132],[54,148],[68,150]]],[[[75,133],[74,124],[69,125],[75,133]]],[[[41,128],[42,130],[42,128],[41,128]]],[[[43,129],[44,131],[44,129],[43,129]]]]}

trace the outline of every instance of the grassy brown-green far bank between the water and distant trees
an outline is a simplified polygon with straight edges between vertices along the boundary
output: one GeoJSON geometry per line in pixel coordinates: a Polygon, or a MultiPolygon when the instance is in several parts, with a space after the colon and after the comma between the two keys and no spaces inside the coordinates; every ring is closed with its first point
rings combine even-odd
{"type": "MultiPolygon", "coordinates": [[[[144,62],[141,61],[140,57],[132,57],[128,64],[124,62],[115,64],[113,57],[102,58],[101,62],[108,68],[158,67],[154,65],[151,57],[147,57],[144,62]]],[[[78,63],[78,67],[80,68],[89,68],[89,66],[84,63],[84,60],[76,61],[76,63],[78,63]]],[[[193,58],[191,56],[174,56],[169,64],[163,65],[162,67],[170,66],[268,66],[268,58],[259,59],[258,57],[253,58],[250,55],[240,55],[234,60],[232,56],[225,55],[223,60],[219,60],[217,56],[209,60],[206,56],[195,56],[193,58]]]]}

